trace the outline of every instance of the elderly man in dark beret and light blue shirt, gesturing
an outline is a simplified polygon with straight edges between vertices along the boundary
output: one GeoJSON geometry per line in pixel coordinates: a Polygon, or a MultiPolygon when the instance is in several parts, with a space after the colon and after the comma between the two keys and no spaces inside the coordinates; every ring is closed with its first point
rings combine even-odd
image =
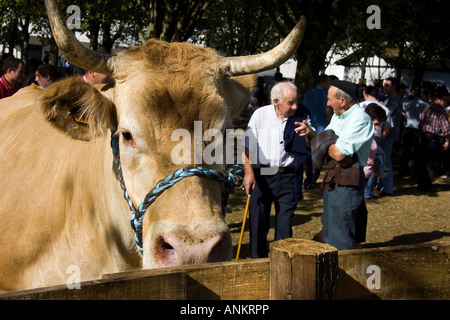
{"type": "MultiPolygon", "coordinates": [[[[328,89],[328,105],[334,114],[325,131],[333,130],[338,136],[336,142],[330,144],[328,156],[337,165],[350,158],[359,163],[359,176],[356,177],[359,185],[336,182],[323,190],[322,238],[338,250],[353,249],[356,215],[364,201],[363,167],[367,164],[374,133],[372,120],[356,103],[357,97],[356,85],[348,81],[333,80],[328,89]]],[[[329,170],[324,179],[328,173],[329,170]]]]}

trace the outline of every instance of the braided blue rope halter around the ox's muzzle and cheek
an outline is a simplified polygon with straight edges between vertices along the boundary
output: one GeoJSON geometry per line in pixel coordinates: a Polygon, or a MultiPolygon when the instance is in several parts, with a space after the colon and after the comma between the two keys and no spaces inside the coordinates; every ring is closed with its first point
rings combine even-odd
{"type": "Polygon", "coordinates": [[[131,201],[128,191],[125,187],[125,182],[122,175],[122,166],[120,164],[120,152],[119,152],[119,137],[115,136],[115,132],[111,133],[111,148],[114,156],[114,168],[117,174],[117,178],[120,182],[120,187],[123,190],[123,196],[128,203],[130,208],[131,217],[130,223],[131,228],[134,230],[134,238],[136,240],[136,245],[139,251],[142,253],[142,220],[147,212],[150,205],[155,202],[156,198],[159,197],[164,191],[172,187],[175,183],[181,181],[187,177],[205,177],[208,179],[214,179],[222,182],[223,192],[222,192],[222,210],[225,215],[225,209],[228,203],[228,196],[234,192],[235,188],[242,185],[244,169],[238,165],[234,164],[227,168],[225,172],[218,172],[212,169],[204,169],[202,167],[185,167],[180,168],[174,173],[168,175],[165,179],[160,180],[156,186],[150,190],[149,193],[144,197],[144,200],[136,208],[131,201]]]}

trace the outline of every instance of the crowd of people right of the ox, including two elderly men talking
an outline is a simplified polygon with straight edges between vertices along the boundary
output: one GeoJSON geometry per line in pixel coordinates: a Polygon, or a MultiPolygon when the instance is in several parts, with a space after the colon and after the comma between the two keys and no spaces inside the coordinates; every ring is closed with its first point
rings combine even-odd
{"type": "MultiPolygon", "coordinates": [[[[260,79],[260,96],[263,88],[260,79]]],[[[394,195],[394,174],[416,178],[424,192],[436,176],[450,175],[447,88],[405,88],[392,77],[382,86],[362,86],[320,75],[303,104],[290,82],[276,82],[271,103],[254,104],[243,139],[252,258],[268,254],[272,205],[275,240],[292,236],[302,190],[323,192],[323,228],[315,239],[345,250],[362,247],[365,202],[394,195]],[[258,155],[253,162],[252,152],[258,155]],[[394,171],[397,154],[400,168],[394,171]],[[267,167],[272,170],[263,174],[267,167]]]]}

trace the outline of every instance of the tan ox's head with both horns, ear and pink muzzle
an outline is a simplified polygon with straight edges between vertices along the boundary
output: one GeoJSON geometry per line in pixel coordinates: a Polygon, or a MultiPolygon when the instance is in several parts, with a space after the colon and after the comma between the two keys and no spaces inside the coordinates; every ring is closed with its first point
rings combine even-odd
{"type": "MultiPolygon", "coordinates": [[[[46,89],[41,106],[50,121],[76,139],[116,131],[124,181],[135,206],[160,179],[186,166],[174,163],[176,146],[182,143],[183,150],[195,150],[194,139],[172,141],[172,134],[183,129],[194,137],[198,121],[202,134],[211,128],[221,132],[232,128],[232,117],[247,103],[254,86],[254,77],[244,75],[286,61],[300,44],[305,25],[302,18],[279,46],[254,56],[222,58],[211,49],[156,40],[110,56],[83,47],[66,27],[55,1],[45,2],[53,36],[65,58],[111,75],[114,84],[102,92],[78,84],[77,90],[86,91],[84,98],[65,101],[69,107],[63,111],[55,111],[63,109],[55,106],[64,86],[55,84],[46,89]]],[[[191,163],[194,157],[191,154],[191,163]]],[[[204,166],[219,171],[225,167],[204,166]]],[[[144,267],[231,258],[221,188],[216,181],[184,179],[152,204],[143,224],[144,267]]]]}

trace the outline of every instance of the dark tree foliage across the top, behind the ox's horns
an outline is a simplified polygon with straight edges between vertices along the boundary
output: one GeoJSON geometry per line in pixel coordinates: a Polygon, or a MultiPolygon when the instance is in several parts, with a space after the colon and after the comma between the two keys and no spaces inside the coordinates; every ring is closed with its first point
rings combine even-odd
{"type": "MultiPolygon", "coordinates": [[[[282,40],[300,16],[307,26],[296,58],[300,96],[315,85],[332,46],[352,49],[355,63],[377,54],[394,67],[411,68],[416,79],[431,65],[445,67],[450,35],[445,0],[58,0],[81,9],[80,32],[93,50],[110,52],[120,43],[150,38],[194,41],[225,55],[267,51],[282,40]],[[381,9],[381,28],[369,30],[369,5],[381,9]],[[388,55],[387,52],[394,52],[388,55]]],[[[41,0],[0,0],[0,39],[26,55],[30,31],[49,38],[41,0]],[[32,28],[32,29],[31,29],[32,28]]],[[[68,14],[66,14],[68,16],[68,14]]]]}

